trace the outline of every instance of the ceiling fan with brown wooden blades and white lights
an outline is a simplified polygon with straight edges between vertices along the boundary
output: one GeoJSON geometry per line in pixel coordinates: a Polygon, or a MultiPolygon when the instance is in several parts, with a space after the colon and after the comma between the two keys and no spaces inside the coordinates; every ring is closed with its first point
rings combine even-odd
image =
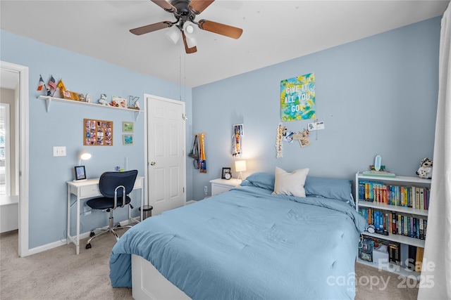
{"type": "Polygon", "coordinates": [[[202,13],[205,8],[214,2],[214,0],[151,0],[154,4],[160,6],[168,13],[173,13],[175,21],[163,21],[157,22],[150,25],[145,25],[142,27],[137,27],[130,30],[132,34],[141,35],[149,32],[154,32],[156,30],[161,30],[168,27],[177,27],[180,32],[182,32],[183,44],[185,44],[186,53],[194,53],[197,51],[197,47],[193,45],[188,45],[189,37],[187,34],[193,32],[193,27],[190,27],[189,22],[197,25],[201,30],[206,30],[209,32],[214,32],[216,34],[221,34],[226,37],[231,37],[233,39],[238,39],[241,37],[242,29],[233,27],[230,25],[224,25],[218,22],[213,22],[209,20],[199,20],[196,22],[194,19],[199,13],[202,13]]]}

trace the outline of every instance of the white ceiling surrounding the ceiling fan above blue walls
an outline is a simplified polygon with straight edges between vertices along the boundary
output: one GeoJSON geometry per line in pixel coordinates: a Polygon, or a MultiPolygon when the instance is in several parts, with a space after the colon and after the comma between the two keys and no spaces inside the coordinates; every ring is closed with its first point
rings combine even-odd
{"type": "MultiPolygon", "coordinates": [[[[240,39],[197,30],[197,53],[167,39],[168,29],[130,29],[175,20],[149,0],[0,1],[1,29],[187,86],[292,58],[442,15],[450,1],[216,0],[196,20],[240,27],[240,39]]],[[[70,72],[70,70],[68,70],[70,72]]]]}

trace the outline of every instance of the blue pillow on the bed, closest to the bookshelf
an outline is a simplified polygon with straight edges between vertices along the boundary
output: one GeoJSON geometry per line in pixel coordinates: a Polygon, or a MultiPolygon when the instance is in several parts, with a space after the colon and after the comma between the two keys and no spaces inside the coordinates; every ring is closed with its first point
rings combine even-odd
{"type": "Polygon", "coordinates": [[[354,197],[352,197],[352,181],[342,178],[323,178],[307,176],[304,183],[305,195],[337,199],[352,207],[354,197]]]}

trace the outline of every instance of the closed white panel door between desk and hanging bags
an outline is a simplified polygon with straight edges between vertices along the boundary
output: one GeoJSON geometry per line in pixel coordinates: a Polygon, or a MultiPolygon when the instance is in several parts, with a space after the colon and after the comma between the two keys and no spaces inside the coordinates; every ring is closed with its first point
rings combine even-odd
{"type": "Polygon", "coordinates": [[[147,97],[147,195],[152,214],[186,202],[185,103],[147,97]]]}

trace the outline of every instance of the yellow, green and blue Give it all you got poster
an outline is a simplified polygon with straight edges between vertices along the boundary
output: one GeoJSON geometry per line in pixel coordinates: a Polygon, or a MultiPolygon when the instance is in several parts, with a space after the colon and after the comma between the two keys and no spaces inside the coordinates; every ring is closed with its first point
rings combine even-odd
{"type": "Polygon", "coordinates": [[[315,74],[309,73],[280,81],[280,119],[315,119],[315,74]]]}

